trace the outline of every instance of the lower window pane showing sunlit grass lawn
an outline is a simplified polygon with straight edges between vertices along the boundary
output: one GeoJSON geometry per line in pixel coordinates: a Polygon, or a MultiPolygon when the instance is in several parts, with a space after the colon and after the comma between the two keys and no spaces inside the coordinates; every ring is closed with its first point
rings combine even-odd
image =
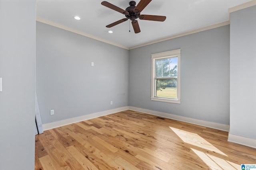
{"type": "Polygon", "coordinates": [[[177,99],[177,79],[156,80],[156,96],[177,99]]]}

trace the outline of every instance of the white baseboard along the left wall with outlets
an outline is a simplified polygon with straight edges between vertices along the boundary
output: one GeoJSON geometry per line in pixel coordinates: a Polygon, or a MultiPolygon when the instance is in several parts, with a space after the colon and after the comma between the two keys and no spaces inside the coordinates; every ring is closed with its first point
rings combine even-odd
{"type": "Polygon", "coordinates": [[[89,115],[83,115],[83,116],[73,117],[73,118],[65,119],[65,120],[61,120],[61,121],[55,121],[55,122],[52,122],[52,123],[46,123],[46,124],[43,124],[43,130],[46,131],[48,129],[53,129],[53,128],[56,128],[56,127],[69,125],[69,124],[72,124],[72,123],[76,123],[76,122],[80,122],[80,121],[84,121],[84,120],[88,120],[88,119],[93,119],[93,118],[96,118],[96,117],[109,115],[109,114],[112,114],[112,113],[116,113],[116,112],[120,112],[120,111],[124,111],[124,110],[128,110],[128,109],[129,109],[128,106],[119,107],[119,108],[116,108],[116,109],[100,111],[100,112],[92,113],[92,114],[89,114],[89,115]]]}

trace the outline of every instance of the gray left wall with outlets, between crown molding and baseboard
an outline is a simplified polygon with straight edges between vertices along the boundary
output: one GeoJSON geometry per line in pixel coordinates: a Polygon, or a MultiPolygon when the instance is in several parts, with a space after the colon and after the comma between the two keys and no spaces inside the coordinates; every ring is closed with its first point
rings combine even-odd
{"type": "Polygon", "coordinates": [[[128,59],[126,49],[37,22],[36,92],[42,123],[128,106],[128,59]]]}

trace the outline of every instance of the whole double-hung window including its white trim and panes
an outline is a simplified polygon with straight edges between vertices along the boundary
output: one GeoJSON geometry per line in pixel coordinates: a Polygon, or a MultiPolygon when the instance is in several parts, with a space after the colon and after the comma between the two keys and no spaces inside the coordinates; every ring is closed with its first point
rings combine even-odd
{"type": "Polygon", "coordinates": [[[180,104],[180,49],[151,55],[151,100],[180,104]]]}

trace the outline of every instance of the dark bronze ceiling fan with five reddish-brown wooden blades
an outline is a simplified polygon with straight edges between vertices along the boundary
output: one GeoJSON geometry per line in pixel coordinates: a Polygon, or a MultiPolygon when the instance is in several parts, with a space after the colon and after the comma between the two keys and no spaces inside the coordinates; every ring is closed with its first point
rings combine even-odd
{"type": "Polygon", "coordinates": [[[164,21],[166,19],[166,16],[153,16],[153,15],[142,15],[140,14],[140,12],[142,12],[142,10],[151,2],[152,0],[140,0],[140,2],[138,3],[137,6],[135,1],[130,1],[129,2],[129,7],[126,8],[126,10],[123,10],[117,6],[114,6],[113,4],[110,4],[109,2],[103,1],[101,2],[101,4],[103,6],[106,6],[112,10],[115,10],[117,12],[120,12],[122,14],[125,15],[126,18],[123,18],[121,20],[118,20],[116,22],[110,23],[109,25],[107,25],[106,27],[110,28],[113,27],[119,23],[122,23],[124,21],[127,21],[128,19],[130,19],[132,21],[132,27],[134,29],[135,33],[139,33],[140,32],[140,26],[138,23],[138,20],[136,20],[137,18],[139,18],[140,20],[151,20],[151,21],[164,21]]]}

